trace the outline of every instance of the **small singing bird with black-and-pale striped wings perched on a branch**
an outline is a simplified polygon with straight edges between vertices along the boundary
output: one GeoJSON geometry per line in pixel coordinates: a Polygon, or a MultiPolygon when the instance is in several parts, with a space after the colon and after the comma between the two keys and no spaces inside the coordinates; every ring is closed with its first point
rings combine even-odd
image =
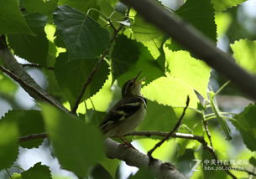
{"type": "Polygon", "coordinates": [[[132,132],[146,115],[147,100],[140,94],[144,78],[136,81],[139,74],[141,72],[123,84],[122,99],[112,107],[100,124],[106,137],[118,137],[128,146],[131,144],[123,136],[132,132]]]}

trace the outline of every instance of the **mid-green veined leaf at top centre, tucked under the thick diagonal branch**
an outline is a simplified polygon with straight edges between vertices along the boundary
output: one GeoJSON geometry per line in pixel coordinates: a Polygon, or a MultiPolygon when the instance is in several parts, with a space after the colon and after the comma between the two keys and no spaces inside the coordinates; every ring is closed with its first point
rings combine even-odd
{"type": "Polygon", "coordinates": [[[159,38],[163,35],[158,28],[155,28],[154,25],[151,25],[144,21],[138,13],[134,18],[134,23],[132,25],[133,38],[138,42],[145,42],[153,40],[154,38],[159,38]]]}

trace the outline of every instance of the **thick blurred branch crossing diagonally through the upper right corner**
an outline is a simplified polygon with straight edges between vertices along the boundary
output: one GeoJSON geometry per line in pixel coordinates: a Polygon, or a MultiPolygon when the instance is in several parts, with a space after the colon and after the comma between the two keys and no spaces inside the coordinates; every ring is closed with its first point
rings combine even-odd
{"type": "Polygon", "coordinates": [[[215,43],[174,13],[168,12],[151,0],[121,0],[133,7],[149,23],[188,49],[191,54],[206,61],[217,72],[237,84],[245,94],[256,100],[256,78],[235,64],[234,59],[217,49],[215,43]]]}

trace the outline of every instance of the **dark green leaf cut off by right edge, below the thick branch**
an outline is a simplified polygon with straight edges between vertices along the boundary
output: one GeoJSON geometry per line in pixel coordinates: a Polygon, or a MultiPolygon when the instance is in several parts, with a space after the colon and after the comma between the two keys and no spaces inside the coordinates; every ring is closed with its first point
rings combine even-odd
{"type": "Polygon", "coordinates": [[[235,115],[231,120],[243,137],[244,144],[251,151],[256,151],[256,105],[248,105],[242,113],[235,115]]]}

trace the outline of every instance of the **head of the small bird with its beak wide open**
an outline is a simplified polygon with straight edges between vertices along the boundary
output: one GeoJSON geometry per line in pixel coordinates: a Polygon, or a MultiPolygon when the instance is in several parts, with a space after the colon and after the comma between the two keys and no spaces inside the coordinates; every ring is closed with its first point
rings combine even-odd
{"type": "Polygon", "coordinates": [[[135,76],[135,78],[129,79],[125,84],[123,84],[122,97],[127,95],[141,95],[141,82],[144,81],[145,77],[140,80],[137,80],[139,74],[141,74],[141,71],[135,76]]]}

